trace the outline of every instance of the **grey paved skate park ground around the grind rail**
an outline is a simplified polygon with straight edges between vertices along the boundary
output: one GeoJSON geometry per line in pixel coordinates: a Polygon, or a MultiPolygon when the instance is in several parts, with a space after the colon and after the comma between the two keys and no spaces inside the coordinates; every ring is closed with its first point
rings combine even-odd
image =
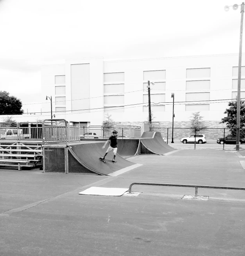
{"type": "Polygon", "coordinates": [[[245,191],[134,185],[139,196],[79,195],[133,182],[245,187],[235,153],[181,150],[128,159],[116,177],[0,169],[0,255],[244,255],[245,191]]]}

